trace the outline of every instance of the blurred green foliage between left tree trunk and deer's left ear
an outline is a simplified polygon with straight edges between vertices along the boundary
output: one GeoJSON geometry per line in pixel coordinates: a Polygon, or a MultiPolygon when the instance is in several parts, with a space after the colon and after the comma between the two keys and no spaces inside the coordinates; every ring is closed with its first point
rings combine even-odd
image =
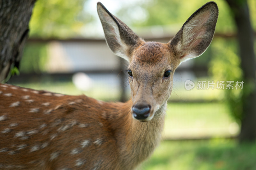
{"type": "Polygon", "coordinates": [[[33,37],[71,37],[91,21],[83,11],[85,0],[37,0],[29,23],[33,37]]]}

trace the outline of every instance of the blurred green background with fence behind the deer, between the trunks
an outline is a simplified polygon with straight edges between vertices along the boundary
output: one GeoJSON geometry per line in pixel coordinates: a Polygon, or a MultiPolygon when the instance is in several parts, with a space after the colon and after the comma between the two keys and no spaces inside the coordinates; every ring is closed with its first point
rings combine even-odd
{"type": "MultiPolygon", "coordinates": [[[[69,95],[85,94],[104,101],[128,100],[130,87],[125,72],[128,63],[108,49],[97,16],[97,1],[37,0],[20,61],[20,75],[13,76],[8,83],[69,95]]],[[[167,43],[188,17],[208,1],[101,2],[140,37],[167,43]]],[[[251,90],[248,87],[241,64],[241,42],[236,36],[239,32],[236,17],[240,14],[235,13],[232,1],[215,2],[219,18],[212,44],[203,55],[182,63],[176,70],[163,141],[139,169],[256,169],[255,142],[241,142],[243,139],[239,138],[243,97],[255,87],[253,83],[251,90]],[[193,89],[186,90],[186,80],[195,84],[193,89]],[[205,81],[204,89],[197,89],[198,81],[205,81]],[[207,89],[212,81],[214,88],[207,89]],[[218,81],[245,83],[243,89],[236,89],[235,85],[234,89],[218,89],[218,81]]],[[[255,41],[256,1],[243,2],[249,7],[255,41]]],[[[255,60],[252,62],[255,65],[255,60]]]]}

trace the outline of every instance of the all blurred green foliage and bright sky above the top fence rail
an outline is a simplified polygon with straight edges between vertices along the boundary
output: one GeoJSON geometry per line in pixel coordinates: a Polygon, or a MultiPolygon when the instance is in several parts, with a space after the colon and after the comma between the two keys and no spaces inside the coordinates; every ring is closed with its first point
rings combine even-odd
{"type": "MultiPolygon", "coordinates": [[[[94,21],[92,13],[84,10],[87,0],[37,0],[31,21],[30,36],[74,37],[81,36],[85,24],[94,21]]],[[[208,0],[147,0],[127,3],[117,15],[130,26],[170,25],[178,31],[188,17],[208,0]]],[[[218,33],[236,31],[232,12],[225,0],[215,0],[219,6],[218,33]]],[[[256,1],[248,0],[252,26],[256,29],[256,1]]],[[[95,4],[96,5],[96,4],[95,4]]]]}

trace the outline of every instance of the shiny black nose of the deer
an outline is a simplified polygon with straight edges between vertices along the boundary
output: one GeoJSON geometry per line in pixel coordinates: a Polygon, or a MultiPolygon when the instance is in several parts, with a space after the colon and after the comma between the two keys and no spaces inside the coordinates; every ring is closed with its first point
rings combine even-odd
{"type": "Polygon", "coordinates": [[[135,119],[138,119],[138,120],[147,119],[149,116],[149,110],[150,110],[149,105],[134,105],[132,107],[133,116],[135,119]]]}

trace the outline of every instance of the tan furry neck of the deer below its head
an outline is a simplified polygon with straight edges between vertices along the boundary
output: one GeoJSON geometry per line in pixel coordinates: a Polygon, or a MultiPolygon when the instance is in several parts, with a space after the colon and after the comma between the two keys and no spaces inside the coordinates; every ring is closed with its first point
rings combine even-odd
{"type": "Polygon", "coordinates": [[[136,166],[154,151],[164,128],[166,106],[167,102],[156,111],[151,121],[140,122],[132,118],[132,102],[124,103],[122,113],[113,120],[115,125],[119,122],[114,131],[123,166],[136,166]]]}

